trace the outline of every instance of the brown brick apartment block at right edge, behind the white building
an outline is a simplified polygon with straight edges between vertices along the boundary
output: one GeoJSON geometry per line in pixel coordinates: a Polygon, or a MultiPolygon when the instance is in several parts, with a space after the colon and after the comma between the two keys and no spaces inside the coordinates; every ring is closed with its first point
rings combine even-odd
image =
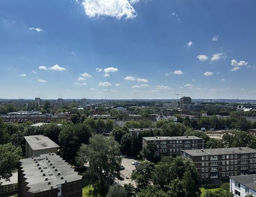
{"type": "Polygon", "coordinates": [[[182,150],[183,158],[195,163],[202,180],[256,172],[256,150],[248,147],[182,150]]]}

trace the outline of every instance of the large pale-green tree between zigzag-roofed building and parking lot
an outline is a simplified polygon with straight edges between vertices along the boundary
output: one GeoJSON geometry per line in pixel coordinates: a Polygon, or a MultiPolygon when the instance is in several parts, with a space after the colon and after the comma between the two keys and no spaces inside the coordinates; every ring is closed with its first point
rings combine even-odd
{"type": "Polygon", "coordinates": [[[88,145],[82,144],[76,161],[81,166],[89,163],[84,174],[86,182],[96,184],[101,192],[120,177],[120,145],[113,137],[94,135],[88,145]]]}

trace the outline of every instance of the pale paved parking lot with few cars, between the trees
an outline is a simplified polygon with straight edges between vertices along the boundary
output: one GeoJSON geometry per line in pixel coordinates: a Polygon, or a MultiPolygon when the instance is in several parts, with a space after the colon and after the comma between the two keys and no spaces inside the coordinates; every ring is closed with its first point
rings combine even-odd
{"type": "Polygon", "coordinates": [[[135,165],[132,165],[132,162],[134,162],[134,159],[127,159],[127,158],[123,158],[122,159],[122,165],[124,166],[124,170],[121,170],[121,176],[124,178],[123,181],[121,180],[116,180],[116,182],[120,185],[124,185],[125,183],[132,183],[134,185],[134,187],[136,187],[135,181],[131,180],[131,175],[132,175],[132,170],[135,170],[135,165]],[[129,179],[127,179],[127,177],[129,179]]]}

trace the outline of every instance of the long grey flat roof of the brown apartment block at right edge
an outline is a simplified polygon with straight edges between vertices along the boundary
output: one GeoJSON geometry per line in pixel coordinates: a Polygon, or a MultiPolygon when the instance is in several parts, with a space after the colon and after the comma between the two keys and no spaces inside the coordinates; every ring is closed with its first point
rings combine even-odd
{"type": "Polygon", "coordinates": [[[209,156],[209,155],[232,155],[232,154],[246,154],[256,153],[255,149],[249,147],[237,147],[237,148],[223,148],[223,149],[194,149],[194,150],[182,150],[190,156],[209,156]],[[241,149],[241,150],[240,150],[241,149]]]}

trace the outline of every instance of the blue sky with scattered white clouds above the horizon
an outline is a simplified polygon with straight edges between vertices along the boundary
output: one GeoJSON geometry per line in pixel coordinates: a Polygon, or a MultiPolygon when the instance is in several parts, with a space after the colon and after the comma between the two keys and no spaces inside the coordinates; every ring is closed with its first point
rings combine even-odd
{"type": "Polygon", "coordinates": [[[0,98],[255,99],[255,7],[1,0],[0,98]]]}

